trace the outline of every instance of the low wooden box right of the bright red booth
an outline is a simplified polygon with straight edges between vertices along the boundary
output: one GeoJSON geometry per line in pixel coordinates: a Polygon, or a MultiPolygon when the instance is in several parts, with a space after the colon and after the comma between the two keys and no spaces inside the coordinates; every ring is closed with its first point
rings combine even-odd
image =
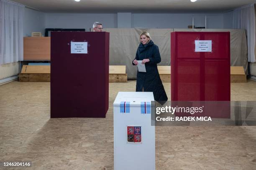
{"type": "Polygon", "coordinates": [[[246,82],[246,74],[242,66],[230,67],[230,82],[246,82]]]}

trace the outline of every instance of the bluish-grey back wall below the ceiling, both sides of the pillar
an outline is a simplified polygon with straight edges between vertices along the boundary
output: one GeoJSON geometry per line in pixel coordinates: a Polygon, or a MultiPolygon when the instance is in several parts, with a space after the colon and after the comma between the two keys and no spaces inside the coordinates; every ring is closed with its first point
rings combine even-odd
{"type": "MultiPolygon", "coordinates": [[[[172,14],[172,13],[132,13],[131,28],[187,28],[192,25],[207,28],[224,28],[223,13],[209,14],[172,14]]],[[[46,28],[85,28],[87,31],[92,24],[99,21],[104,28],[118,28],[117,13],[46,13],[46,28]]],[[[123,22],[123,20],[122,20],[123,22]]],[[[125,26],[126,28],[127,25],[125,26]]]]}

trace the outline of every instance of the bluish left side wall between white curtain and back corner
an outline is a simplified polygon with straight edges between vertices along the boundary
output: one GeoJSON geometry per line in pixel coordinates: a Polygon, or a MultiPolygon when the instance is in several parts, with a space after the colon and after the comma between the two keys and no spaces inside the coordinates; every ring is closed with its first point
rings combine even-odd
{"type": "Polygon", "coordinates": [[[44,35],[45,20],[45,13],[25,7],[23,23],[24,37],[31,36],[31,32],[41,32],[44,35]]]}

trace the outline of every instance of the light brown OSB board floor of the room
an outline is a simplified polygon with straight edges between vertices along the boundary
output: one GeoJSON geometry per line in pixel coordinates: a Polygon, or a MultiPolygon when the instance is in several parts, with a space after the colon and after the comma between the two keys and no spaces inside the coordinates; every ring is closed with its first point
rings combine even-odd
{"type": "MultiPolygon", "coordinates": [[[[170,96],[170,83],[163,84],[170,96]]],[[[59,119],[50,119],[49,82],[0,86],[0,162],[32,161],[31,168],[0,169],[113,170],[113,101],[135,85],[109,84],[106,118],[59,119]]],[[[256,82],[231,83],[231,99],[256,100],[256,82]]],[[[156,127],[156,170],[255,167],[256,127],[156,127]]]]}

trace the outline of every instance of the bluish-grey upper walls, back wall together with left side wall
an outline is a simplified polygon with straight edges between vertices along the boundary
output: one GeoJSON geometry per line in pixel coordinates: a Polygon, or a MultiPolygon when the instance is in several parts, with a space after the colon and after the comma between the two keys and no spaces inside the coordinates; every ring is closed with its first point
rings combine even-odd
{"type": "MultiPolygon", "coordinates": [[[[233,15],[229,13],[130,13],[131,19],[125,28],[187,28],[192,25],[207,28],[232,28],[233,15]]],[[[42,13],[25,8],[24,36],[31,36],[31,32],[42,32],[45,28],[92,28],[95,22],[101,22],[104,28],[118,28],[124,20],[118,20],[118,13],[42,13]]]]}

